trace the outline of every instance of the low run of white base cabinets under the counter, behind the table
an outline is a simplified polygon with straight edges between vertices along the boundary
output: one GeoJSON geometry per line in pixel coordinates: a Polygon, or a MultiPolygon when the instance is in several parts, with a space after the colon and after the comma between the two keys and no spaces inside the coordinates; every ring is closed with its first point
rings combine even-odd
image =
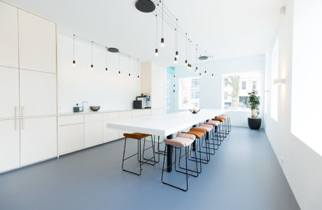
{"type": "Polygon", "coordinates": [[[107,123],[151,116],[151,110],[106,113],[77,113],[58,117],[58,154],[64,155],[123,138],[126,131],[111,129],[107,123]]]}

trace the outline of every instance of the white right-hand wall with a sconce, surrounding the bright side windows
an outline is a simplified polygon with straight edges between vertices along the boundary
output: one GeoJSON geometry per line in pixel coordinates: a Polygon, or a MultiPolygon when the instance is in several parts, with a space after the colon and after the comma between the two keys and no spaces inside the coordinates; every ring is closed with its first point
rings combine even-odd
{"type": "MultiPolygon", "coordinates": [[[[290,132],[293,83],[293,2],[297,9],[300,9],[298,8],[299,2],[312,3],[311,0],[290,0],[286,5],[286,15],[281,16],[276,38],[279,36],[279,77],[286,78],[286,84],[279,87],[278,122],[270,118],[270,107],[267,107],[265,131],[301,209],[322,209],[322,157],[290,132]]],[[[272,46],[273,43],[274,41],[272,46]]],[[[301,69],[301,71],[306,71],[306,69],[301,69]]],[[[301,83],[293,85],[301,86],[301,83]]],[[[304,118],[302,123],[309,123],[309,118],[304,118]]],[[[321,141],[321,137],[315,136],[315,140],[321,141]]]]}

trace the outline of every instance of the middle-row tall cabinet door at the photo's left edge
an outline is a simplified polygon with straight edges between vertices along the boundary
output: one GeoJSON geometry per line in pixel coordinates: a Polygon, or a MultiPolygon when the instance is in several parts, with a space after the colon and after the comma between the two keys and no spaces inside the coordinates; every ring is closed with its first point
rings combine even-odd
{"type": "Polygon", "coordinates": [[[0,66],[0,99],[0,118],[19,117],[18,69],[0,66]]]}

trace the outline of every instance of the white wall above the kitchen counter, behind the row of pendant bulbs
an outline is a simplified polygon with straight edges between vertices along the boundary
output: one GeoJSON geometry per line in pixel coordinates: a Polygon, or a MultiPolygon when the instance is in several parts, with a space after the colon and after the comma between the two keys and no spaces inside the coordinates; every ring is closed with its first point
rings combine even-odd
{"type": "Polygon", "coordinates": [[[75,51],[76,66],[73,66],[73,34],[58,34],[58,112],[71,112],[75,104],[81,105],[83,101],[89,106],[101,106],[104,111],[132,109],[133,100],[141,94],[137,60],[130,61],[129,78],[128,57],[121,57],[122,74],[118,76],[118,53],[108,52],[106,73],[106,48],[94,45],[94,70],[90,69],[91,44],[76,38],[75,51]]]}

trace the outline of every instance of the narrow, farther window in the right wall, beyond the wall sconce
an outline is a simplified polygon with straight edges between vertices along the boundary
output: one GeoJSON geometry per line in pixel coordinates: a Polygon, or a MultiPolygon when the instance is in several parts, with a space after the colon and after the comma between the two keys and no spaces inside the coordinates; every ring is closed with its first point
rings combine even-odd
{"type": "Polygon", "coordinates": [[[274,85],[274,79],[279,76],[279,38],[277,38],[272,50],[272,76],[271,76],[271,95],[270,95],[270,113],[271,118],[278,120],[279,92],[278,87],[274,85]]]}

